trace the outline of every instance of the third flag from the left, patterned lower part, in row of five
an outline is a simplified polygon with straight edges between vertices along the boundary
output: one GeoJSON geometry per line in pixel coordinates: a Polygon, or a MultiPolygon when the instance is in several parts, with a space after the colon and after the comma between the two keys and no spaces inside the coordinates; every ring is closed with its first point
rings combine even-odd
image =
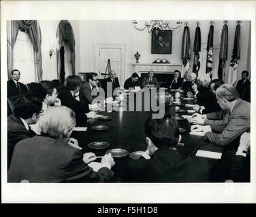
{"type": "Polygon", "coordinates": [[[212,78],[212,53],[213,53],[213,33],[214,26],[210,25],[210,30],[208,33],[208,41],[207,41],[207,60],[206,60],[206,74],[209,73],[212,78]]]}

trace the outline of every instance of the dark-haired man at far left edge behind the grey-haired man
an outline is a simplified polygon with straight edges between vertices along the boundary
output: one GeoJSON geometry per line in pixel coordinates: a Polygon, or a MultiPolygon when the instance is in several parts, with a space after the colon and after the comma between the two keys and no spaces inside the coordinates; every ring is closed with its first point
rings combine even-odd
{"type": "Polygon", "coordinates": [[[16,144],[25,138],[35,136],[29,127],[37,123],[42,113],[42,101],[31,96],[18,98],[14,105],[14,114],[7,118],[7,167],[9,168],[12,153],[16,144]]]}

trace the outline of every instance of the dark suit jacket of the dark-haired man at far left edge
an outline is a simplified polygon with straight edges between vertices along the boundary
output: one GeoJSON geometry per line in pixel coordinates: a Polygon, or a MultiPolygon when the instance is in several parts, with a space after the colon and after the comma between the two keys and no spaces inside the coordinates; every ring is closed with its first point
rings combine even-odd
{"type": "Polygon", "coordinates": [[[15,115],[7,118],[7,167],[10,167],[14,147],[20,140],[35,136],[33,130],[27,130],[21,119],[15,115]]]}

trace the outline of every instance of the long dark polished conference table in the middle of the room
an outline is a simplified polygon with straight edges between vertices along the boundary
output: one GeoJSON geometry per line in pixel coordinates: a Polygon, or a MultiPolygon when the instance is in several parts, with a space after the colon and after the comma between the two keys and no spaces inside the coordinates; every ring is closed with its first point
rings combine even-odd
{"type": "MultiPolygon", "coordinates": [[[[155,92],[150,94],[155,94],[155,92]]],[[[166,95],[174,96],[174,93],[165,92],[166,95]]],[[[151,95],[150,95],[151,96],[151,95]]],[[[155,96],[153,96],[154,99],[155,96]]],[[[129,110],[129,104],[134,102],[134,107],[136,108],[136,101],[138,98],[138,92],[129,92],[124,95],[124,100],[121,102],[121,105],[118,104],[117,107],[112,112],[108,112],[105,108],[105,111],[97,112],[98,115],[110,116],[110,120],[101,120],[97,118],[87,120],[87,130],[86,132],[74,132],[71,136],[76,138],[79,142],[79,146],[82,147],[83,153],[93,152],[97,156],[105,155],[106,151],[110,149],[125,149],[129,153],[134,151],[146,151],[146,134],[144,132],[144,122],[148,117],[153,115],[152,109],[149,109],[145,106],[148,104],[148,98],[144,97],[142,94],[142,111],[125,111],[129,110]],[[126,107],[125,107],[126,106],[126,107]],[[146,111],[145,111],[146,110],[146,111]],[[106,125],[108,130],[92,130],[91,127],[95,125],[106,125]],[[110,145],[106,149],[90,149],[88,144],[91,142],[108,142],[110,145]]],[[[191,111],[191,107],[185,106],[186,104],[196,104],[196,99],[182,99],[185,96],[180,95],[181,100],[178,101],[178,104],[170,104],[164,107],[165,114],[170,114],[173,117],[181,117],[182,115],[193,115],[193,113],[187,113],[191,111]],[[181,110],[181,113],[178,113],[177,110],[181,110]],[[184,113],[182,113],[184,112],[184,113]]],[[[149,104],[151,104],[151,99],[149,104]]],[[[174,101],[176,102],[176,101],[174,101]]],[[[131,109],[130,109],[131,110],[131,109]]],[[[133,109],[135,110],[135,109],[133,109]]],[[[179,118],[178,118],[179,119],[179,118]]],[[[198,149],[206,151],[217,151],[221,153],[222,149],[220,147],[206,142],[203,140],[202,136],[191,135],[191,124],[187,119],[178,120],[178,125],[180,128],[184,129],[185,132],[180,132],[182,139],[177,146],[177,150],[181,155],[193,156],[198,149]]],[[[183,131],[184,131],[183,130],[183,131]]],[[[97,159],[100,161],[101,159],[97,159]]],[[[123,177],[125,174],[125,168],[127,162],[133,160],[127,155],[126,157],[115,157],[114,161],[116,162],[112,171],[114,172],[114,177],[112,182],[123,182],[123,177]]],[[[209,165],[213,165],[217,160],[208,159],[209,165]]],[[[210,169],[209,169],[210,170],[210,169]]]]}

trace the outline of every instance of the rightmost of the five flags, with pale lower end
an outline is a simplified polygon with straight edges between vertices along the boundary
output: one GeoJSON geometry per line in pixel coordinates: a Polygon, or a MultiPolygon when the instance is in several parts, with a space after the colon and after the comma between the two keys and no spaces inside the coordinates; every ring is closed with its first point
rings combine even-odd
{"type": "Polygon", "coordinates": [[[239,59],[240,59],[240,21],[238,21],[238,24],[236,25],[234,48],[231,55],[229,77],[227,80],[227,83],[230,83],[232,85],[236,83],[239,59]]]}

